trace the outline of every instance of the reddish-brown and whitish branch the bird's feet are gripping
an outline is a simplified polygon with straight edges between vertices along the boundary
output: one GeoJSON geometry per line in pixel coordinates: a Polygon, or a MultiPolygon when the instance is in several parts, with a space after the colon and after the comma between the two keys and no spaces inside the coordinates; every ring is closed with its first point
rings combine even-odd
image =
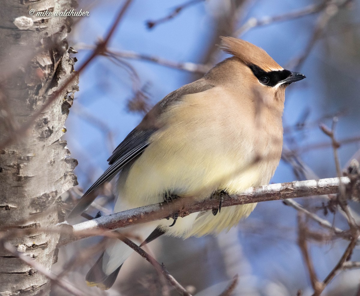
{"type": "MultiPolygon", "coordinates": [[[[348,177],[342,177],[341,181],[344,185],[350,183],[350,179],[348,177]]],[[[252,187],[246,190],[243,194],[225,198],[222,206],[228,207],[285,198],[334,194],[338,193],[339,182],[339,178],[328,178],[270,184],[257,188],[252,187]]],[[[216,208],[218,206],[219,197],[207,199],[203,202],[194,202],[191,198],[179,198],[170,204],[157,203],[134,208],[74,225],[74,237],[63,238],[62,241],[59,242],[59,246],[66,245],[74,240],[89,237],[91,236],[91,230],[114,230],[132,224],[161,220],[173,216],[175,212],[179,213],[180,217],[185,217],[191,213],[211,210],[212,208],[216,208]]]]}

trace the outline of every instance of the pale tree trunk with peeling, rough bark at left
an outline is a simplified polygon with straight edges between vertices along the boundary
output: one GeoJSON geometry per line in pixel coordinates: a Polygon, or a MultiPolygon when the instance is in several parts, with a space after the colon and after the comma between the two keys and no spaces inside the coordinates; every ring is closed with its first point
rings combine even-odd
{"type": "Polygon", "coordinates": [[[77,90],[67,41],[71,18],[39,11],[75,8],[72,0],[2,0],[0,10],[0,295],[49,295],[49,279],[3,248],[10,242],[50,270],[64,220],[60,194],[77,185],[64,122],[77,90]],[[30,10],[35,10],[30,15],[30,10]],[[56,94],[56,97],[54,97],[56,94]],[[51,104],[39,116],[39,110],[51,104]],[[30,123],[29,123],[30,122],[30,123]],[[26,125],[26,126],[24,126],[26,125]],[[22,128],[24,127],[24,128],[22,128]],[[10,139],[10,140],[9,140],[10,139]],[[21,236],[14,232],[23,229],[21,236]]]}

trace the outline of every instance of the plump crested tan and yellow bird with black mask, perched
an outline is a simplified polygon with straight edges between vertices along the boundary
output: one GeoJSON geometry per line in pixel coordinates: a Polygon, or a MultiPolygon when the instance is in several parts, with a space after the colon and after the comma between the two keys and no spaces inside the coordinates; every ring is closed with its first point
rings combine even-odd
{"type": "MultiPolygon", "coordinates": [[[[179,197],[203,201],[220,192],[215,211],[174,215],[172,225],[163,219],[117,230],[147,237],[143,244],[164,233],[218,234],[253,211],[256,203],[221,209],[221,202],[226,195],[269,184],[282,153],[285,89],[306,77],[247,41],[221,37],[220,47],[231,56],[159,101],[114,150],[108,169],[68,217],[85,211],[94,190],[116,175],[114,212],[179,197]]],[[[132,252],[120,240],[109,241],[87,273],[87,284],[110,288],[132,252]]]]}

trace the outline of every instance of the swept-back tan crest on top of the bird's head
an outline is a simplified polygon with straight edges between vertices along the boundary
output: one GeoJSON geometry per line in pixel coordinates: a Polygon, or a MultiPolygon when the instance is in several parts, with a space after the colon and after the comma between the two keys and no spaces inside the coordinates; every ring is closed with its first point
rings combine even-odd
{"type": "Polygon", "coordinates": [[[255,64],[264,71],[283,70],[264,49],[250,42],[233,37],[221,37],[220,48],[226,53],[234,55],[246,65],[255,64]]]}

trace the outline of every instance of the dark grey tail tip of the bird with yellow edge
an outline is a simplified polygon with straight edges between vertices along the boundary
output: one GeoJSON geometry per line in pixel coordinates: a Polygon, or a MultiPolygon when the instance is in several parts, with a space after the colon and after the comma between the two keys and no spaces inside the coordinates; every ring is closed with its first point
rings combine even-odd
{"type": "Polygon", "coordinates": [[[108,290],[114,284],[122,264],[111,274],[107,275],[103,271],[103,257],[104,251],[100,255],[99,259],[96,261],[94,266],[91,267],[89,272],[86,274],[85,280],[87,286],[98,287],[101,290],[108,290]]]}

